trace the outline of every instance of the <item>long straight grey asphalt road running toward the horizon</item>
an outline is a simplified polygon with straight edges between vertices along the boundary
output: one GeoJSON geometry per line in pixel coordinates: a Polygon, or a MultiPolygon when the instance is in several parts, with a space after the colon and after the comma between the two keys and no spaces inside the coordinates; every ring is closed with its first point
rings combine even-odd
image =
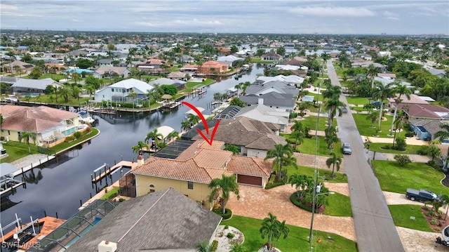
{"type": "MultiPolygon", "coordinates": [[[[335,68],[328,61],[328,76],[332,84],[340,86],[335,68]]],[[[348,104],[344,94],[340,100],[348,104]]],[[[349,196],[354,217],[358,251],[404,251],[387,201],[368,164],[368,154],[351,113],[337,117],[342,142],[349,142],[352,154],[344,156],[344,171],[348,175],[349,196]]]]}

